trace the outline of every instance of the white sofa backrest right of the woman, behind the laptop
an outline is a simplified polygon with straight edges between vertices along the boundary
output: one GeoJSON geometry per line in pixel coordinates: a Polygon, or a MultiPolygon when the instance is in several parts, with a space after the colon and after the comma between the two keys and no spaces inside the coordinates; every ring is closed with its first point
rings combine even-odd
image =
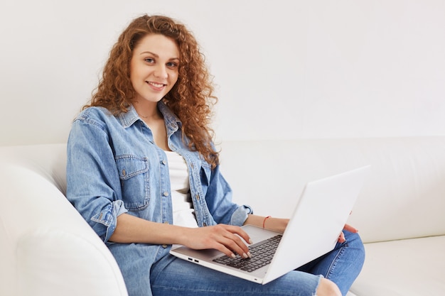
{"type": "Polygon", "coordinates": [[[220,148],[233,199],[256,214],[290,216],[306,182],[370,164],[348,221],[363,241],[445,234],[445,136],[225,141],[220,148]]]}

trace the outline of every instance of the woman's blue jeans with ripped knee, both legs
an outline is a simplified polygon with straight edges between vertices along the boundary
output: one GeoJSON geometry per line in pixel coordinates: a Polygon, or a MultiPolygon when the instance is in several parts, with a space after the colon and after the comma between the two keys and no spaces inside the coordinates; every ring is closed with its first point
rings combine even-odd
{"type": "Polygon", "coordinates": [[[360,273],[365,252],[358,234],[344,233],[346,241],[337,243],[333,251],[267,285],[163,256],[151,270],[151,289],[154,296],[312,296],[323,276],[336,283],[346,295],[360,273]]]}

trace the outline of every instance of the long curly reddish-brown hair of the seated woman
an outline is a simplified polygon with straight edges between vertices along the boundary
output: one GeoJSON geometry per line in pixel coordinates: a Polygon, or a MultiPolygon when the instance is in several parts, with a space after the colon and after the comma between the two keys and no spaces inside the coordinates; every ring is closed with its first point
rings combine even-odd
{"type": "Polygon", "coordinates": [[[213,146],[210,128],[211,106],[218,101],[205,57],[195,37],[182,23],[166,16],[135,18],[119,36],[104,65],[102,79],[92,94],[90,104],[102,106],[112,114],[127,112],[136,92],[130,81],[130,60],[136,45],[149,34],[161,34],[176,42],[180,64],[178,81],[163,97],[163,102],[181,120],[183,141],[215,168],[219,155],[213,146]]]}

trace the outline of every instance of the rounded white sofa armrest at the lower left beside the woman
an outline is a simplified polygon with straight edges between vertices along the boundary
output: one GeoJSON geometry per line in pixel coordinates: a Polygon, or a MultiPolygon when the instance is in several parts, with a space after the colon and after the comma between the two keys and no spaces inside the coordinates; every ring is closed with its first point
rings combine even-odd
{"type": "Polygon", "coordinates": [[[49,174],[0,163],[0,295],[127,295],[112,254],[49,174]]]}

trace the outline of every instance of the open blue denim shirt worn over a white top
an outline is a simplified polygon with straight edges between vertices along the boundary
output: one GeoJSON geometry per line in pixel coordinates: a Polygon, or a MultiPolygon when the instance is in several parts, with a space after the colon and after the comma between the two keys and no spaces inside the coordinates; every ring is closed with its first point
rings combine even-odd
{"type": "MultiPolygon", "coordinates": [[[[252,209],[232,202],[232,190],[219,165],[212,170],[198,152],[188,149],[181,121],[162,102],[158,108],[166,124],[168,147],[186,160],[198,226],[241,226],[252,209]]],[[[150,128],[133,107],[117,116],[107,109],[90,107],[77,116],[68,138],[67,183],[68,199],[107,243],[122,269],[132,251],[121,250],[126,244],[108,241],[117,216],[127,213],[173,224],[166,153],[156,146],[150,128]]],[[[149,265],[159,256],[159,248],[166,254],[170,247],[132,245],[146,248],[144,253],[151,254],[147,255],[149,265]]]]}

